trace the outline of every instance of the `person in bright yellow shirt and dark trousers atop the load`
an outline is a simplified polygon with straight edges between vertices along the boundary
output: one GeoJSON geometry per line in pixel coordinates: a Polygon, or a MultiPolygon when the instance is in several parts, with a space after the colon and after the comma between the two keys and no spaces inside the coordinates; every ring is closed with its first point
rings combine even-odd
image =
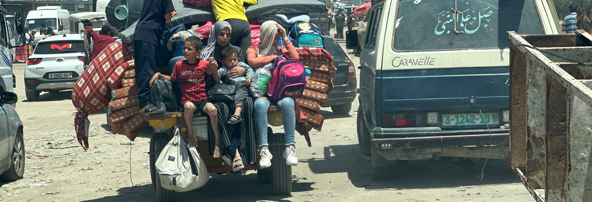
{"type": "Polygon", "coordinates": [[[230,44],[240,47],[246,56],[251,42],[251,27],[244,14],[244,4],[255,5],[257,0],[212,0],[216,21],[226,21],[232,27],[230,44]]]}

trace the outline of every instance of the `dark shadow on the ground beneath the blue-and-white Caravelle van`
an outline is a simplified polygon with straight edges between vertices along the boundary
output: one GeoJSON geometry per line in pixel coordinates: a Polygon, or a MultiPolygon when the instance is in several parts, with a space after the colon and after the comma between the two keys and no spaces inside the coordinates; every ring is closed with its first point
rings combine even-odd
{"type": "Polygon", "coordinates": [[[472,185],[494,185],[520,183],[503,159],[480,159],[477,162],[452,162],[449,157],[440,157],[417,165],[399,161],[392,169],[393,178],[385,181],[371,180],[372,165],[369,156],[361,155],[358,145],[326,146],[323,158],[304,159],[316,174],[347,172],[349,180],[356,187],[366,190],[411,189],[411,188],[454,188],[472,185]],[[336,166],[339,165],[339,166],[336,166]]]}

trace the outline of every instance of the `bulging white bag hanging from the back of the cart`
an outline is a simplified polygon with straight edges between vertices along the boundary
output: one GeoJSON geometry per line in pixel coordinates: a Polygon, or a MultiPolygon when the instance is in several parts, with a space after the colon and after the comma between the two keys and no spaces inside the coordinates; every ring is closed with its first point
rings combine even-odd
{"type": "Polygon", "coordinates": [[[166,144],[165,148],[160,152],[156,160],[156,171],[160,177],[160,184],[162,188],[178,192],[191,191],[202,187],[210,176],[207,168],[197,150],[193,146],[187,146],[185,141],[181,139],[179,130],[175,132],[175,136],[166,144]],[[191,170],[191,162],[189,161],[188,148],[191,152],[191,158],[194,161],[199,175],[195,175],[191,170]]]}

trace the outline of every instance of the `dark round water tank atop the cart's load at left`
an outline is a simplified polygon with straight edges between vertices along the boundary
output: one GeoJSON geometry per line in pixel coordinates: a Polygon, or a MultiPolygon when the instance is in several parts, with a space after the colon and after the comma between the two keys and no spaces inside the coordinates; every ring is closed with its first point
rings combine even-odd
{"type": "Polygon", "coordinates": [[[118,30],[126,30],[140,19],[143,0],[111,0],[105,8],[107,21],[118,30]]]}

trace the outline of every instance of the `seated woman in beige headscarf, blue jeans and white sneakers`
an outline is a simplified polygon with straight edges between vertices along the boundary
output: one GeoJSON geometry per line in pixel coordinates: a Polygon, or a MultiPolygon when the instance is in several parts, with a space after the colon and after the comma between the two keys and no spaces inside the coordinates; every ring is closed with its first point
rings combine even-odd
{"type": "MultiPolygon", "coordinates": [[[[259,28],[259,38],[261,42],[259,46],[249,47],[247,50],[247,61],[252,67],[262,67],[266,64],[274,63],[278,55],[285,54],[292,60],[298,60],[298,52],[294,45],[288,40],[286,30],[275,21],[263,22],[259,28]],[[284,41],[285,47],[278,47],[279,39],[284,41]]],[[[284,123],[284,133],[286,148],[283,157],[286,159],[288,165],[298,165],[298,158],[296,157],[296,142],[294,141],[294,134],[296,131],[296,116],[294,113],[294,99],[292,97],[284,97],[277,103],[282,112],[282,119],[284,123]]],[[[259,152],[261,159],[259,160],[260,168],[267,168],[271,166],[272,155],[269,152],[267,143],[267,112],[271,102],[266,97],[259,97],[255,100],[255,126],[259,136],[259,152]]],[[[281,158],[281,157],[275,157],[281,158]]]]}

